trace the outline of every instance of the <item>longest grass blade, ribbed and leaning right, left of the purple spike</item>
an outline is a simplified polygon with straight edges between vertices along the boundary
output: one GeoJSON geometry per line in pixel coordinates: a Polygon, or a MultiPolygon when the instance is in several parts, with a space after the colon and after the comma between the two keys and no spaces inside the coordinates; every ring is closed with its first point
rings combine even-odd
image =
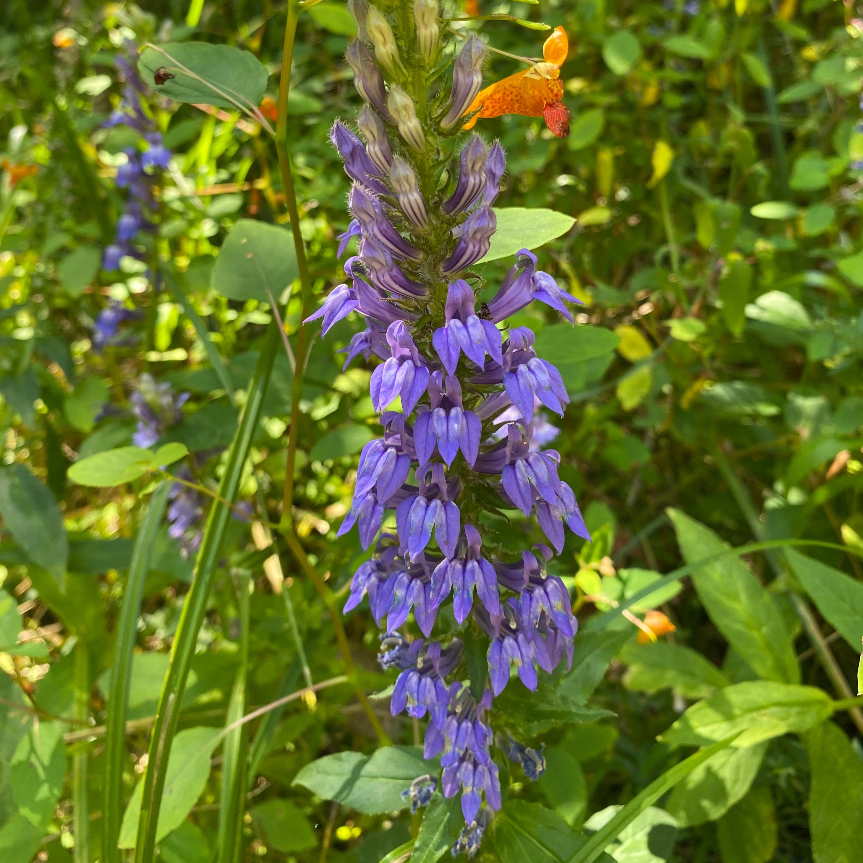
{"type": "MultiPolygon", "coordinates": [[[[270,373],[276,351],[279,347],[279,329],[275,319],[267,328],[267,335],[261,347],[255,373],[249,381],[249,390],[236,434],[230,444],[228,460],[225,464],[218,494],[226,501],[233,502],[243,475],[243,465],[249,455],[252,439],[255,437],[258,421],[261,419],[261,406],[267,391],[270,373]]],[[[195,654],[198,629],[204,620],[207,596],[213,573],[216,571],[218,557],[222,548],[225,527],[230,518],[230,508],[215,501],[207,519],[204,539],[198,550],[198,560],[192,587],[186,595],[186,602],[180,614],[180,623],[174,636],[171,649],[171,665],[156,709],[156,721],[150,737],[147,772],[144,774],[144,787],[141,816],[138,820],[138,834],[135,842],[135,863],[152,863],[155,856],[156,825],[159,821],[161,795],[165,785],[165,772],[168,755],[171,752],[173,736],[180,721],[180,700],[186,689],[186,677],[195,654]]]]}

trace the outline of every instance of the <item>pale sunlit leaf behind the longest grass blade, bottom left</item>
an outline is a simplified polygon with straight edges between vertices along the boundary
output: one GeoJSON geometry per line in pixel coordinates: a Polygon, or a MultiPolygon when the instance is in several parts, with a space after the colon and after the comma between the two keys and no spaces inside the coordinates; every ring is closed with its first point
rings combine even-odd
{"type": "MultiPolygon", "coordinates": [[[[180,827],[192,806],[198,802],[210,775],[210,758],[217,746],[218,735],[218,728],[186,728],[174,737],[156,826],[156,841],[180,827]]],[[[143,779],[140,779],[123,813],[118,847],[135,847],[143,790],[143,779]]]]}

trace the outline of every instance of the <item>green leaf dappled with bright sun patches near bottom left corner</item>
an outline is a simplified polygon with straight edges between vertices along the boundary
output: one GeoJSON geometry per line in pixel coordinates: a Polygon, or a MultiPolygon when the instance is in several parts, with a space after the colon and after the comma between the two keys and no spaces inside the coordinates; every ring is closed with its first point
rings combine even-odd
{"type": "Polygon", "coordinates": [[[60,722],[41,721],[18,741],[9,759],[9,786],[18,811],[45,829],[54,817],[54,806],[63,790],[66,774],[66,745],[60,722]]]}

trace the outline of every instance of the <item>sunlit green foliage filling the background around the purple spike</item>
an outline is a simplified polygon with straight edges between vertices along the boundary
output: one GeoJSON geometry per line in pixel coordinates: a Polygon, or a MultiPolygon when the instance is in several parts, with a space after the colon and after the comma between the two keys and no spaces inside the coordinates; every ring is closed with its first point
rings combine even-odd
{"type": "MultiPolygon", "coordinates": [[[[142,469],[109,488],[67,471],[130,444],[129,399],[148,373],[191,394],[160,444],[187,448],[194,482],[214,493],[271,310],[261,296],[243,299],[242,287],[239,299],[215,290],[211,271],[240,219],[280,226],[271,230],[292,242],[277,155],[260,125],[151,96],[174,157],[156,189],[157,230],[136,242],[167,279],[132,259],[122,272],[100,270],[123,211],[117,167],[123,148],[139,144],[129,129],[103,126],[122,86],[113,61],[126,39],[228,44],[261,60],[275,98],[286,11],[269,0],[207,0],[191,27],[185,0],[10,0],[7,9],[0,859],[77,863],[104,859],[110,668],[133,546],[160,478],[151,468],[179,462],[161,453],[166,462],[144,463],[139,453],[142,469]],[[126,342],[98,354],[93,324],[109,299],[139,317],[124,324],[126,342]]],[[[673,789],[661,786],[623,832],[612,830],[606,852],[620,863],[863,860],[863,714],[852,702],[863,636],[863,9],[829,0],[479,0],[479,12],[563,24],[570,35],[561,72],[570,137],[558,141],[526,117],[478,129],[507,149],[498,206],[576,217],[539,250],[542,267],[583,299],[576,330],[533,306],[515,323],[537,333],[540,356],[570,390],[554,445],[594,532],[592,545],[568,536],[555,562],[581,622],[574,671],[546,677],[538,698],[513,696],[506,708],[513,732],[545,741],[547,772],[536,784],[515,767],[503,775],[507,802],[481,859],[581,860],[578,848],[611,823],[614,807],[642,799],[693,747],[740,732],[673,789]],[[771,540],[743,557],[722,555],[725,544],[771,540]],[[791,550],[782,540],[810,545],[791,550]],[[660,573],[711,555],[649,588],[660,573]],[[614,614],[639,592],[630,616],[661,609],[676,627],[658,643],[639,643],[614,614]]],[[[469,26],[510,54],[539,54],[535,30],[469,26]]],[[[353,28],[340,3],[323,0],[301,13],[293,51],[288,142],[316,294],[342,280],[336,237],[348,224],[349,184],[327,135],[358,107],[343,61],[353,28]]],[[[494,55],[486,81],[520,67],[494,55]]],[[[509,264],[492,261],[484,275],[494,284],[509,264]]],[[[284,299],[293,335],[299,283],[284,299]]],[[[452,819],[439,797],[421,828],[419,815],[401,809],[400,791],[425,769],[412,748],[418,729],[390,717],[385,698],[372,709],[404,748],[376,749],[343,683],[270,711],[249,724],[248,738],[215,736],[299,690],[306,672],[306,683],[343,674],[326,604],[278,533],[269,545],[266,525],[283,517],[293,434],[293,523],[340,607],[362,551],[355,536],[335,532],[356,454],[378,429],[369,369],[342,372],[335,355],[359,328],[349,318],[312,344],[295,427],[291,365],[281,353],[274,363],[237,468],[238,500],[258,527],[230,520],[217,557],[174,740],[190,766],[167,770],[164,863],[225,854],[219,812],[235,781],[225,765],[239,763],[229,752],[249,765],[230,859],[378,863],[412,838],[414,860],[449,854],[454,837],[440,837],[452,819]]],[[[210,504],[201,499],[202,510],[210,504]]],[[[193,556],[180,555],[164,526],[153,530],[128,630],[123,809],[147,765],[192,583],[193,556]]],[[[507,531],[513,553],[531,538],[526,521],[507,531]]],[[[375,664],[368,612],[344,627],[362,689],[386,690],[392,679],[375,664]]],[[[136,818],[133,797],[126,847],[136,818]]]]}

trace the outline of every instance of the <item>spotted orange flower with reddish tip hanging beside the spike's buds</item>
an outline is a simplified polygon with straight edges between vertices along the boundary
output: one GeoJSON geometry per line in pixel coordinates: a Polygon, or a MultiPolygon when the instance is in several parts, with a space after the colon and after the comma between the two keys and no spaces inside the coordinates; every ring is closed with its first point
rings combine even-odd
{"type": "Polygon", "coordinates": [[[480,117],[501,117],[501,114],[520,114],[521,117],[543,117],[545,125],[565,138],[570,134],[570,112],[563,102],[564,82],[560,67],[569,54],[570,43],[564,28],[558,27],[542,47],[545,60],[534,63],[523,72],[516,72],[476,94],[464,113],[474,114],[464,129],[472,129],[480,117]]]}

